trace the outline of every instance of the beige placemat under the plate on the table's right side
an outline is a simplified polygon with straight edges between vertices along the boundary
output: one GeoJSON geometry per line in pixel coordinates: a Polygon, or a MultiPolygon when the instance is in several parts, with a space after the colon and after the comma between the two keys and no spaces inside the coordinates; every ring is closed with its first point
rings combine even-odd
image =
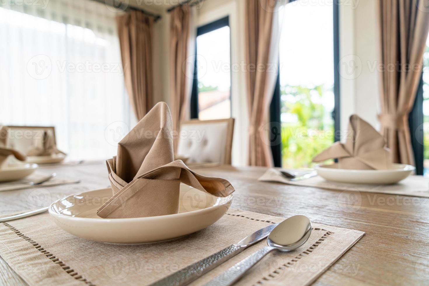
{"type": "Polygon", "coordinates": [[[295,186],[314,187],[329,190],[359,191],[364,193],[381,193],[403,196],[416,196],[429,198],[429,179],[423,176],[409,176],[398,184],[393,185],[366,185],[345,184],[326,181],[320,176],[308,178],[302,181],[289,181],[273,169],[268,169],[258,181],[278,182],[295,186]],[[274,172],[273,172],[274,171],[274,172]]]}

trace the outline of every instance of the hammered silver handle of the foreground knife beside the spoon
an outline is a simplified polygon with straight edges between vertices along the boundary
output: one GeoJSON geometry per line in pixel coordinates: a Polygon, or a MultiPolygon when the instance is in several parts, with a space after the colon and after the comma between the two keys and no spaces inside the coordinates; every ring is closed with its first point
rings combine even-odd
{"type": "Polygon", "coordinates": [[[207,273],[211,269],[242,252],[244,249],[245,247],[239,247],[235,244],[230,245],[229,247],[224,248],[223,250],[220,250],[217,253],[212,254],[211,256],[201,259],[198,262],[195,262],[161,280],[158,280],[157,282],[151,284],[151,286],[187,285],[193,280],[201,277],[203,274],[207,273]]]}

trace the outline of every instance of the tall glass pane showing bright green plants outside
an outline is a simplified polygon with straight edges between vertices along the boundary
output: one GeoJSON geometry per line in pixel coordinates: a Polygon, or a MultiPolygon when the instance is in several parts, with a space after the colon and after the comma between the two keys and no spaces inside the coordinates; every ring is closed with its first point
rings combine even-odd
{"type": "Polygon", "coordinates": [[[282,165],[309,167],[334,140],[333,7],[287,4],[280,40],[282,165]]]}

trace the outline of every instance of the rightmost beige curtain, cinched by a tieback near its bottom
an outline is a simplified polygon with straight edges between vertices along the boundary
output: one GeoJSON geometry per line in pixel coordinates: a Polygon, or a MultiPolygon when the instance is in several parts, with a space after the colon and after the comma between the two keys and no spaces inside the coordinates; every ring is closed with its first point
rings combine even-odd
{"type": "MultiPolygon", "coordinates": [[[[414,165],[408,114],[414,104],[429,30],[424,0],[378,0],[381,132],[396,163],[414,165]]],[[[414,130],[411,130],[414,135],[414,130]]]]}

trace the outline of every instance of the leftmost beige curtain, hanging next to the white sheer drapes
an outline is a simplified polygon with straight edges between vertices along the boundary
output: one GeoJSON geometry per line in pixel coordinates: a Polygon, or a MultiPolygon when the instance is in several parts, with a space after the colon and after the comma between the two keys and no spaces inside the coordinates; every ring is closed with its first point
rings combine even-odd
{"type": "Polygon", "coordinates": [[[152,27],[154,18],[131,10],[116,18],[125,87],[137,120],[152,108],[152,27]]]}

